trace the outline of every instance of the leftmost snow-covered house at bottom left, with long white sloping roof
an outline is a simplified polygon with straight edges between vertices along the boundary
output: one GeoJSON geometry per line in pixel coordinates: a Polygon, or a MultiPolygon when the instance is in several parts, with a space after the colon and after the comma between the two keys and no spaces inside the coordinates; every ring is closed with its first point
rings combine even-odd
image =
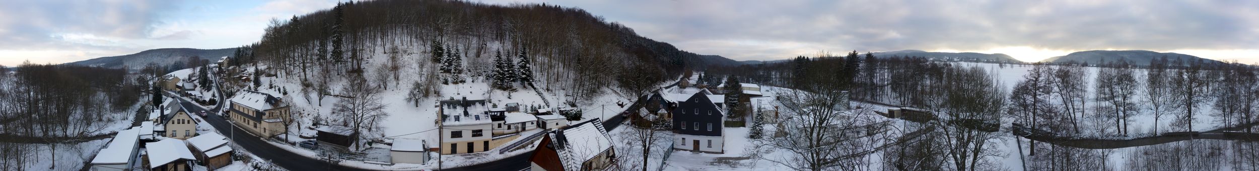
{"type": "Polygon", "coordinates": [[[93,171],[130,171],[138,170],[140,162],[136,162],[140,155],[140,128],[131,128],[118,131],[113,135],[113,140],[110,140],[110,145],[101,148],[101,152],[92,157],[92,170],[93,171]]]}

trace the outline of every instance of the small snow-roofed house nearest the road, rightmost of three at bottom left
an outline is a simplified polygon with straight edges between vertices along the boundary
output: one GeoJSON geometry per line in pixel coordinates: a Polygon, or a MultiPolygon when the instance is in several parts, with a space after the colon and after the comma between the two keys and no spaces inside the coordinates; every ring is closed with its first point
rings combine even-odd
{"type": "Polygon", "coordinates": [[[205,163],[208,170],[218,170],[223,166],[232,165],[232,147],[228,146],[227,137],[223,135],[209,132],[193,138],[188,138],[188,143],[193,145],[193,156],[196,161],[205,163]]]}

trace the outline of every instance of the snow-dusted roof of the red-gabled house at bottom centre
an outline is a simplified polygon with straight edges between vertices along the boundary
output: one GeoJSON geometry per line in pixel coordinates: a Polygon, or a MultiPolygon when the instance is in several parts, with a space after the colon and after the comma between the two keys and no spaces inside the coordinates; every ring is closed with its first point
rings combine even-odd
{"type": "Polygon", "coordinates": [[[602,126],[598,126],[601,123],[603,122],[594,118],[558,132],[564,137],[562,141],[565,141],[560,156],[573,157],[563,158],[567,170],[580,170],[583,162],[612,148],[612,138],[608,137],[602,126]]]}

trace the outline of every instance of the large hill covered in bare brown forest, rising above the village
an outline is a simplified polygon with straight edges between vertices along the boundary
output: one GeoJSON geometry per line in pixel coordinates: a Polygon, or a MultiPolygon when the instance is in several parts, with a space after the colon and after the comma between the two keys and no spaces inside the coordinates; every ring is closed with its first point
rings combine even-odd
{"type": "Polygon", "coordinates": [[[585,91],[616,86],[616,78],[631,73],[663,82],[709,62],[577,8],[453,0],[344,3],[273,20],[262,40],[243,52],[247,58],[233,63],[259,62],[302,78],[317,69],[376,70],[373,58],[402,60],[388,67],[392,72],[432,73],[426,65],[443,65],[438,72],[478,77],[490,74],[496,53],[524,54],[538,80],[580,83],[568,86],[585,91]],[[448,55],[434,52],[457,53],[457,69],[446,69],[448,55]]]}

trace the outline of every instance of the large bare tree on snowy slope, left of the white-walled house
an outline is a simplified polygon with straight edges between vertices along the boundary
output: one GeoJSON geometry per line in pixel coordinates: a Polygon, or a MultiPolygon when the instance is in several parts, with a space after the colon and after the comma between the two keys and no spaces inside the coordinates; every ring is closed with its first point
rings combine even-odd
{"type": "MultiPolygon", "coordinates": [[[[380,103],[380,89],[376,86],[366,84],[363,77],[354,77],[350,84],[341,88],[342,99],[336,103],[334,113],[341,121],[349,122],[354,130],[355,138],[363,137],[363,130],[375,128],[378,121],[384,119],[389,113],[384,112],[385,103],[380,103]]],[[[355,148],[361,148],[359,143],[355,148]]]]}

